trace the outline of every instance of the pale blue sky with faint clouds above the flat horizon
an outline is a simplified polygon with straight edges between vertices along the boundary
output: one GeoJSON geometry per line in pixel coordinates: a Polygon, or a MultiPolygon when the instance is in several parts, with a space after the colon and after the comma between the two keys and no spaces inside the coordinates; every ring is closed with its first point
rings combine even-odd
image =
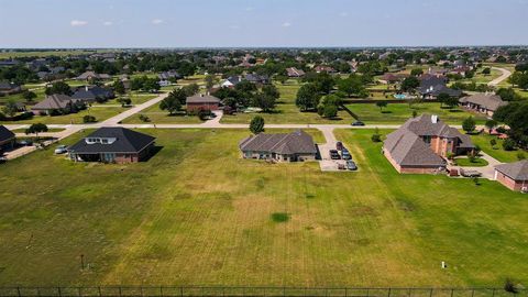
{"type": "Polygon", "coordinates": [[[0,0],[0,47],[528,44],[528,0],[0,0]]]}

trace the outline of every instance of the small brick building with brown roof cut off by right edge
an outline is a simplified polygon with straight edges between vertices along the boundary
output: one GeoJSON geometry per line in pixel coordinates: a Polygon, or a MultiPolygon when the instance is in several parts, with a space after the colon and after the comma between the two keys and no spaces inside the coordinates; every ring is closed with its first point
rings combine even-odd
{"type": "Polygon", "coordinates": [[[495,166],[495,180],[510,190],[528,191],[528,160],[495,166]]]}

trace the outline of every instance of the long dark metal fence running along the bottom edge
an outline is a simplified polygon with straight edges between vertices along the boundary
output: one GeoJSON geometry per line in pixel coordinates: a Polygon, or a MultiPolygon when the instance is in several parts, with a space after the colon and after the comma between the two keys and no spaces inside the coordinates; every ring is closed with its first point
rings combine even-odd
{"type": "Polygon", "coordinates": [[[512,297],[502,288],[346,288],[346,287],[218,287],[218,286],[94,286],[0,287],[2,297],[132,297],[132,296],[346,296],[346,297],[512,297]]]}

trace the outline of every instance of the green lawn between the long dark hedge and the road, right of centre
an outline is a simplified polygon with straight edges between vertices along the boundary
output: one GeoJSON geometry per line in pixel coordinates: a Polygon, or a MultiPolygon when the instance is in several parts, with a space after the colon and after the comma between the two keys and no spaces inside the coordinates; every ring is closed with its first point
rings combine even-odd
{"type": "Polygon", "coordinates": [[[441,108],[440,103],[415,103],[409,106],[408,103],[391,103],[388,101],[387,107],[382,110],[373,103],[352,103],[346,105],[346,107],[366,124],[404,123],[413,117],[414,110],[416,110],[418,116],[422,113],[437,114],[442,121],[450,124],[462,124],[462,121],[470,116],[473,116],[477,124],[483,124],[486,121],[486,117],[483,114],[471,113],[462,108],[453,110],[441,108]]]}

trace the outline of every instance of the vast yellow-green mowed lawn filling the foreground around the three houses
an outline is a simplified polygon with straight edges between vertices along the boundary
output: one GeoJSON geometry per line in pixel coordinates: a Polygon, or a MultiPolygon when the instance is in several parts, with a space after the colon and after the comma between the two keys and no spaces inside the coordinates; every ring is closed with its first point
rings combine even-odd
{"type": "Polygon", "coordinates": [[[245,130],[145,132],[162,147],[146,163],[76,164],[48,150],[0,166],[1,285],[528,280],[526,196],[398,175],[373,131],[337,131],[360,170],[333,174],[242,160],[245,130]]]}

